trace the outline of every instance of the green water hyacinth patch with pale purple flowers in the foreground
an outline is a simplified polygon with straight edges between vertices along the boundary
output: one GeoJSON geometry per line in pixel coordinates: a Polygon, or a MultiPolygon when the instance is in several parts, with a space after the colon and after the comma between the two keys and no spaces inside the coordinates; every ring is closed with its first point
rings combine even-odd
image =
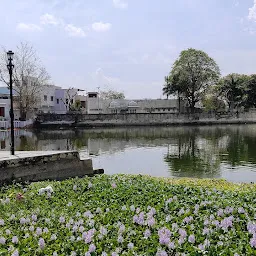
{"type": "Polygon", "coordinates": [[[0,188],[0,255],[256,255],[255,198],[141,175],[14,184],[0,188]]]}

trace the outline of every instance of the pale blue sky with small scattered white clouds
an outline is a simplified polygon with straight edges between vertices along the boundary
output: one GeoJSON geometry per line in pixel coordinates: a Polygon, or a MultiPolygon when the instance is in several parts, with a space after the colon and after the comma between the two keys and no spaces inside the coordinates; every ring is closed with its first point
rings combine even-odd
{"type": "Polygon", "coordinates": [[[51,83],[163,98],[179,53],[256,73],[256,0],[0,0],[0,45],[37,51],[51,83]]]}

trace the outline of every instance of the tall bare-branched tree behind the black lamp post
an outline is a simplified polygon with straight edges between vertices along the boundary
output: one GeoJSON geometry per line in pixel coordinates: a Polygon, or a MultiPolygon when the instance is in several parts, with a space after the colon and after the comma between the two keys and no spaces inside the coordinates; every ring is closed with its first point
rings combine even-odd
{"type": "MultiPolygon", "coordinates": [[[[6,49],[0,54],[0,81],[9,87],[9,73],[7,70],[6,49]]],[[[33,46],[20,43],[14,52],[13,81],[14,90],[18,96],[20,117],[26,119],[29,111],[34,111],[40,102],[40,92],[50,76],[42,66],[33,46]]]]}

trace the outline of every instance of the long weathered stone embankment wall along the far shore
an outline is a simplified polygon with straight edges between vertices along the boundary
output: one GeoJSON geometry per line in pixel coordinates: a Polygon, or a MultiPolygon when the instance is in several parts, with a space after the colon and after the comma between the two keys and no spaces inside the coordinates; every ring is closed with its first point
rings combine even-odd
{"type": "Polygon", "coordinates": [[[189,124],[232,124],[256,123],[256,112],[229,114],[40,114],[35,126],[39,128],[57,127],[111,127],[189,124]]]}

